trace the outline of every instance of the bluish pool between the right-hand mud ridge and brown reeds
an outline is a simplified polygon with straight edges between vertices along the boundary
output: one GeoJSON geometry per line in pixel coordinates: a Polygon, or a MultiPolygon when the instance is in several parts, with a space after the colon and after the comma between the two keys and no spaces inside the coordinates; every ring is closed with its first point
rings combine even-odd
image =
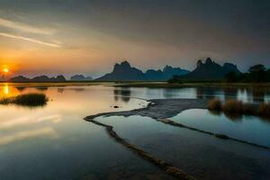
{"type": "Polygon", "coordinates": [[[181,112],[172,119],[200,130],[270,146],[270,121],[256,116],[193,109],[181,112]]]}

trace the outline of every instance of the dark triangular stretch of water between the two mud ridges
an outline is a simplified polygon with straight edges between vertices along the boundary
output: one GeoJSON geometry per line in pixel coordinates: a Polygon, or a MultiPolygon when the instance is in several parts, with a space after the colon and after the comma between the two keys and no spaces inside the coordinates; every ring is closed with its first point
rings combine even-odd
{"type": "Polygon", "coordinates": [[[263,148],[217,139],[147,117],[113,116],[97,120],[112,125],[132,144],[172,162],[197,179],[268,180],[270,177],[270,152],[263,148]]]}

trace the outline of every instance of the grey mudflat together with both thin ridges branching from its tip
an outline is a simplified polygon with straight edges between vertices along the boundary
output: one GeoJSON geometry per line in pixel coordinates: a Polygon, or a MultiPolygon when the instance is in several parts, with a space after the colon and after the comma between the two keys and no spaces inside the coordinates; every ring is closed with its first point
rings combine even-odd
{"type": "Polygon", "coordinates": [[[102,126],[105,128],[107,133],[120,143],[125,148],[129,148],[132,152],[136,153],[139,157],[148,160],[148,162],[152,163],[155,166],[158,166],[160,169],[165,171],[169,175],[173,175],[178,179],[194,179],[193,176],[188,175],[184,173],[181,169],[179,169],[176,166],[173,166],[166,161],[163,161],[161,159],[158,159],[157,157],[153,157],[152,155],[145,152],[143,149],[137,148],[136,146],[130,144],[125,139],[122,139],[118,134],[113,130],[113,127],[110,125],[103,124],[99,121],[94,121],[94,118],[104,116],[131,116],[131,115],[140,115],[140,116],[147,116],[150,117],[156,121],[165,123],[167,125],[179,127],[179,128],[185,128],[188,130],[194,130],[198,131],[200,133],[208,134],[210,136],[214,136],[218,139],[222,140],[233,140],[238,143],[247,144],[250,146],[254,146],[257,148],[266,148],[270,149],[269,147],[259,145],[256,143],[248,142],[246,140],[241,139],[234,139],[231,138],[225,134],[217,134],[213,133],[211,131],[206,130],[199,130],[195,129],[193,127],[186,126],[184,124],[181,124],[179,122],[171,121],[169,118],[174,117],[179,112],[182,112],[187,109],[205,109],[207,108],[207,101],[205,100],[197,100],[197,99],[156,99],[156,100],[150,100],[150,103],[148,103],[148,106],[145,108],[137,109],[137,110],[131,110],[131,111],[125,111],[125,112],[103,112],[98,113],[95,115],[90,115],[85,117],[85,121],[90,121],[96,125],[102,126]]]}

